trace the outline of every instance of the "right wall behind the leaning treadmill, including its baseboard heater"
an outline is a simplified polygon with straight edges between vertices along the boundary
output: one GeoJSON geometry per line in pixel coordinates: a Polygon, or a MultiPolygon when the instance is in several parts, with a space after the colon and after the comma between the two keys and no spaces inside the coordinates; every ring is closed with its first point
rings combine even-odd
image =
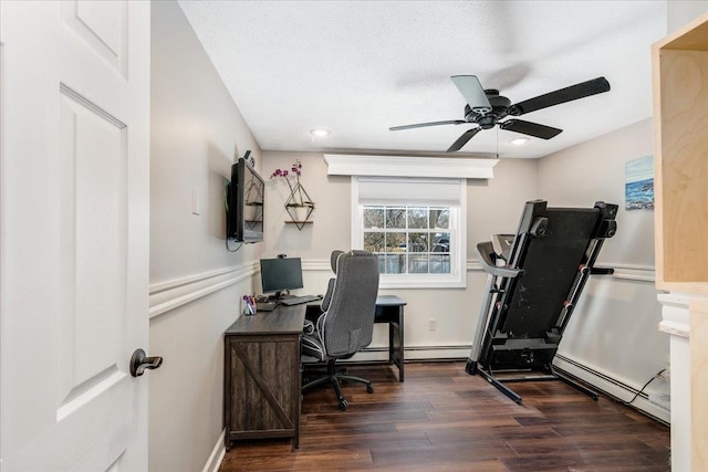
{"type": "MultiPolygon", "coordinates": [[[[593,276],[565,331],[556,364],[628,400],[668,363],[668,336],[658,332],[660,305],[654,289],[654,212],[624,209],[625,164],[653,155],[652,120],[645,119],[539,160],[539,195],[553,206],[617,203],[617,234],[605,241],[597,265],[613,276],[593,276]],[[563,357],[583,365],[579,369],[563,357]],[[590,370],[590,371],[589,371],[590,370]]],[[[665,405],[668,382],[646,391],[665,405]]],[[[642,398],[636,406],[668,421],[668,411],[642,398]]]]}

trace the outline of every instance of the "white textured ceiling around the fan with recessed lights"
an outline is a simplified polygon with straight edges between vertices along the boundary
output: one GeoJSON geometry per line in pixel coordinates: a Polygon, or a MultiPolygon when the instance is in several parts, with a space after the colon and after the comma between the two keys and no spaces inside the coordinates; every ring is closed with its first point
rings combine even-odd
{"type": "Polygon", "coordinates": [[[529,113],[559,136],[482,130],[457,155],[534,158],[652,116],[666,2],[189,1],[189,22],[263,150],[445,151],[476,125],[451,75],[511,103],[605,76],[607,93],[529,113]],[[332,130],[314,138],[315,126],[332,130]]]}

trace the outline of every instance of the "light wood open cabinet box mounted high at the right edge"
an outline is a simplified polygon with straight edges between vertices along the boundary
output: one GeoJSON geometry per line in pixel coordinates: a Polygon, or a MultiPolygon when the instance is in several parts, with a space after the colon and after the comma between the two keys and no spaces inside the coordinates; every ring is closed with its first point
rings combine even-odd
{"type": "Polygon", "coordinates": [[[652,53],[656,286],[708,294],[708,14],[652,53]]]}

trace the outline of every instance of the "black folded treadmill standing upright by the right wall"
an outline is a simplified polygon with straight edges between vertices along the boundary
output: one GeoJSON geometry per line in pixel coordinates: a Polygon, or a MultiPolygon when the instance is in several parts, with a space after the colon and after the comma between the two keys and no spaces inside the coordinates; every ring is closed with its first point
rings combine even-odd
{"type": "Polygon", "coordinates": [[[494,234],[477,244],[488,273],[466,371],[479,374],[517,403],[521,396],[506,384],[560,379],[597,399],[597,395],[555,371],[553,357],[605,239],[617,229],[617,206],[549,208],[524,204],[516,234],[494,234]]]}

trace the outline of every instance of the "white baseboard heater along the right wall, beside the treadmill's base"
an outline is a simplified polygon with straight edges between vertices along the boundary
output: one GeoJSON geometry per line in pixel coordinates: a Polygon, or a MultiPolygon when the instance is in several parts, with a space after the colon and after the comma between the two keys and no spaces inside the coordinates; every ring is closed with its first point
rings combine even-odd
{"type": "MultiPolygon", "coordinates": [[[[621,401],[629,401],[639,390],[623,382],[622,380],[612,378],[603,373],[594,370],[577,360],[573,360],[563,355],[556,354],[553,358],[553,366],[560,370],[576,377],[584,382],[591,385],[594,389],[597,389],[610,397],[616,398],[621,401]]],[[[656,418],[666,424],[670,423],[670,411],[663,406],[653,403],[649,401],[649,397],[646,394],[639,394],[632,403],[632,407],[638,409],[645,415],[656,418]]]]}

